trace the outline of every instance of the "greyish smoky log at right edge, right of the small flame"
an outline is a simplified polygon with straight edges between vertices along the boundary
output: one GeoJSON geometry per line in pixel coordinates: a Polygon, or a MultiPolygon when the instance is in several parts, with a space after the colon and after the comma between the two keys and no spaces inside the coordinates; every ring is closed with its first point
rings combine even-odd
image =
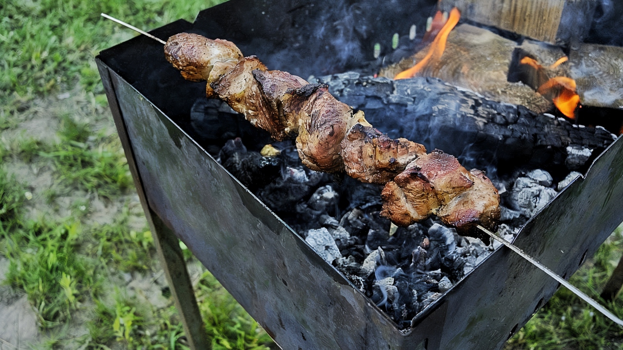
{"type": "Polygon", "coordinates": [[[573,45],[569,61],[583,105],[623,110],[623,47],[573,45]]]}

